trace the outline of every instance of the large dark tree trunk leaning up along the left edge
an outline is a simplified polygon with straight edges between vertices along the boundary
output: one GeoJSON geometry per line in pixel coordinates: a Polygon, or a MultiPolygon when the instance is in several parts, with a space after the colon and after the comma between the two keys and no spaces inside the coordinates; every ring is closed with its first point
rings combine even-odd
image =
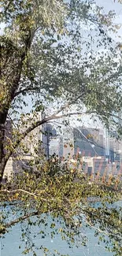
{"type": "MultiPolygon", "coordinates": [[[[31,33],[30,28],[27,28],[27,35],[25,31],[25,46],[20,49],[19,46],[14,45],[13,41],[6,38],[3,39],[3,46],[0,44],[0,58],[2,59],[2,67],[0,68],[1,80],[6,83],[0,84],[0,90],[5,97],[0,102],[0,187],[2,178],[6,167],[6,162],[9,158],[6,152],[6,118],[8,115],[11,103],[16,97],[16,92],[20,83],[20,76],[23,68],[23,63],[27,57],[28,50],[31,47],[31,41],[35,35],[35,30],[31,33]],[[8,46],[9,43],[9,46],[8,46]],[[8,51],[9,49],[9,51],[8,51]],[[8,57],[9,54],[9,57],[8,57]],[[9,58],[9,61],[8,61],[9,58]],[[7,61],[8,62],[7,62],[7,61]],[[6,65],[7,63],[7,65],[6,65]],[[13,65],[12,65],[13,63],[13,65]]],[[[13,152],[12,152],[13,153],[13,152]]]]}

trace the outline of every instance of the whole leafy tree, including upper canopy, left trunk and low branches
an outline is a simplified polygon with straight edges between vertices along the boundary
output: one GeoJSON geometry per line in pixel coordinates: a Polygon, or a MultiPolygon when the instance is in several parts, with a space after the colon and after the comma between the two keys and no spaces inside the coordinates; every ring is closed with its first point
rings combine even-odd
{"type": "MultiPolygon", "coordinates": [[[[108,15],[104,15],[102,9],[98,6],[94,9],[91,1],[63,2],[54,0],[33,2],[31,0],[17,0],[2,1],[1,14],[1,20],[6,25],[5,31],[1,35],[0,51],[1,189],[2,192],[6,192],[6,200],[9,200],[9,198],[11,198],[10,200],[15,198],[22,200],[24,198],[24,203],[20,206],[21,210],[27,209],[28,202],[31,202],[31,198],[32,200],[34,198],[33,202],[36,210],[31,215],[38,216],[48,211],[53,214],[56,212],[55,217],[59,214],[64,218],[67,217],[65,223],[71,228],[73,225],[72,214],[77,214],[81,210],[74,203],[77,197],[81,200],[84,187],[87,190],[86,183],[81,182],[81,187],[83,187],[81,189],[79,183],[74,183],[75,176],[72,176],[70,172],[68,173],[67,169],[61,175],[59,172],[60,165],[56,165],[58,175],[56,173],[52,174],[54,165],[52,162],[50,165],[46,162],[42,167],[40,156],[38,156],[39,165],[35,166],[35,170],[33,170],[34,162],[31,160],[32,173],[28,173],[27,170],[23,173],[23,176],[19,173],[19,177],[13,180],[13,184],[6,184],[6,188],[4,185],[2,186],[2,177],[8,159],[10,156],[15,157],[17,148],[23,147],[23,140],[31,131],[42,124],[61,117],[65,117],[68,121],[68,117],[74,113],[83,114],[84,106],[87,109],[86,113],[98,115],[107,128],[110,124],[113,124],[114,128],[116,124],[118,132],[120,132],[121,119],[118,117],[122,102],[120,88],[121,59],[118,63],[120,50],[105,32],[105,27],[109,30],[112,29],[114,13],[110,12],[108,15]],[[82,35],[81,24],[84,28],[90,26],[87,39],[84,39],[85,35],[82,35]],[[83,48],[84,46],[86,46],[86,49],[83,48]],[[100,54],[102,46],[108,49],[103,55],[100,54]],[[94,56],[96,51],[98,58],[94,56]],[[57,110],[54,113],[47,114],[41,121],[37,121],[35,118],[32,119],[31,125],[28,125],[30,124],[31,115],[27,121],[21,117],[22,124],[27,125],[27,127],[24,131],[19,131],[17,122],[13,119],[17,111],[20,112],[18,106],[20,102],[23,102],[23,106],[26,105],[24,96],[27,97],[28,95],[31,95],[33,101],[32,117],[37,117],[39,111],[43,112],[45,110],[46,112],[48,102],[57,100],[59,103],[57,103],[57,110]],[[36,100],[37,96],[38,100],[36,100]],[[75,108],[73,113],[70,111],[72,106],[75,108]],[[9,120],[13,121],[16,126],[13,129],[11,139],[6,136],[7,121],[9,120]],[[48,173],[49,169],[50,173],[48,173]],[[42,180],[37,179],[40,170],[42,170],[42,180]],[[43,184],[47,184],[47,191],[46,189],[42,191],[43,184]],[[50,184],[52,184],[52,190],[50,189],[49,192],[50,184]],[[64,184],[64,191],[61,192],[62,184],[64,184]],[[29,191],[27,189],[28,185],[29,191]],[[7,186],[9,186],[9,189],[7,186]],[[57,193],[58,186],[59,195],[57,193]],[[71,188],[69,190],[70,194],[67,194],[69,187],[74,187],[73,199],[71,188]],[[36,188],[38,193],[36,193],[36,188]],[[43,192],[44,197],[40,197],[43,192]],[[7,193],[12,196],[8,198],[7,193]],[[38,200],[35,200],[36,198],[38,200]],[[61,203],[59,204],[59,202],[61,203]],[[39,210],[41,205],[42,210],[39,210]],[[72,209],[74,209],[73,212],[72,209]]],[[[78,176],[78,178],[83,180],[83,176],[78,176]]],[[[93,186],[95,185],[93,184],[93,186]]],[[[88,188],[91,191],[91,184],[88,185],[88,188]]],[[[86,193],[88,193],[87,191],[86,193]]],[[[104,189],[103,191],[105,192],[104,189]]],[[[107,196],[109,196],[108,193],[112,193],[113,198],[114,193],[112,191],[110,189],[107,196]]],[[[92,193],[85,194],[83,200],[88,195],[92,195],[92,193]]],[[[93,189],[93,195],[98,195],[96,188],[93,189]]],[[[120,197],[120,194],[117,197],[120,197]]],[[[103,198],[105,198],[105,194],[103,198]]],[[[93,223],[102,220],[104,213],[101,213],[101,211],[102,209],[98,210],[97,217],[94,217],[95,213],[93,213],[93,223]]],[[[90,208],[83,210],[83,213],[87,214],[89,221],[90,208]]],[[[109,214],[110,217],[113,216],[113,213],[109,214]]],[[[27,216],[25,214],[23,220],[31,215],[27,216]]],[[[20,221],[20,219],[17,221],[20,221]]],[[[113,222],[115,228],[116,218],[113,219],[113,222]]],[[[3,221],[2,232],[15,223],[10,223],[7,226],[3,221]]],[[[114,232],[111,236],[113,238],[114,232]]]]}

